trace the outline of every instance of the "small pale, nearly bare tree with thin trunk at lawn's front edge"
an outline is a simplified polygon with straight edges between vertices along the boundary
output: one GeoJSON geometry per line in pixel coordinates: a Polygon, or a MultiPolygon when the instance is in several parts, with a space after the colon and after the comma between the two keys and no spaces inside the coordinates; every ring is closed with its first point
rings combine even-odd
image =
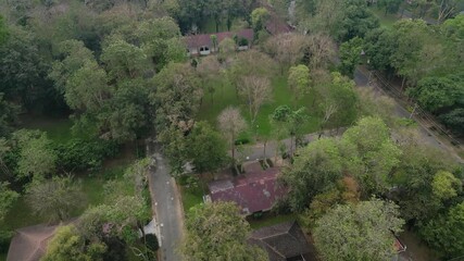
{"type": "MultiPolygon", "coordinates": [[[[228,107],[217,116],[220,129],[230,145],[233,162],[235,162],[235,140],[247,128],[247,122],[237,108],[228,107]]],[[[234,163],[235,164],[235,163],[234,163]]]]}

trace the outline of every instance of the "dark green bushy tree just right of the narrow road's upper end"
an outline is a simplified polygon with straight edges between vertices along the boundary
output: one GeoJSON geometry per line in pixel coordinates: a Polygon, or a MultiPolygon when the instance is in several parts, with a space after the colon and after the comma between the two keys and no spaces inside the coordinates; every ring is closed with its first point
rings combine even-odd
{"type": "Polygon", "coordinates": [[[227,160],[226,144],[206,122],[197,122],[187,138],[188,154],[199,173],[212,172],[227,160]]]}

